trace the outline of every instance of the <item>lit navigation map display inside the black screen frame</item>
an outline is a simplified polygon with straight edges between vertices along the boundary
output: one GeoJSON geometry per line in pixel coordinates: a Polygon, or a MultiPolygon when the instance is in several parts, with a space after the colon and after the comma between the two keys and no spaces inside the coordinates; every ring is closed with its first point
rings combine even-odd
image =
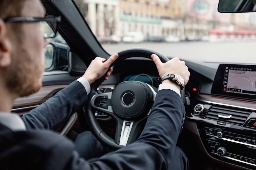
{"type": "Polygon", "coordinates": [[[223,91],[256,95],[256,71],[248,68],[226,67],[223,91]]]}

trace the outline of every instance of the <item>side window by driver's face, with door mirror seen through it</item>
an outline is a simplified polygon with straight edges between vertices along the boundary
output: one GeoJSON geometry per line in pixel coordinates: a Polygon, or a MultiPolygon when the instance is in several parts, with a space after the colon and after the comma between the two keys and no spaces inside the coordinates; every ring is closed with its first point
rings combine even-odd
{"type": "Polygon", "coordinates": [[[68,71],[68,51],[67,42],[57,33],[44,48],[45,71],[68,71]]]}

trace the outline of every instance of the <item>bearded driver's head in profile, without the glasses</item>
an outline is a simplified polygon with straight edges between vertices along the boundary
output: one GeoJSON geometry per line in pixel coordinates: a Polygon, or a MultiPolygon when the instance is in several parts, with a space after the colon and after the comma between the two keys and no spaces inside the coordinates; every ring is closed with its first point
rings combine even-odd
{"type": "Polygon", "coordinates": [[[40,0],[0,1],[0,90],[15,97],[37,92],[42,85],[44,50],[48,44],[39,22],[10,22],[10,17],[44,17],[40,0]]]}

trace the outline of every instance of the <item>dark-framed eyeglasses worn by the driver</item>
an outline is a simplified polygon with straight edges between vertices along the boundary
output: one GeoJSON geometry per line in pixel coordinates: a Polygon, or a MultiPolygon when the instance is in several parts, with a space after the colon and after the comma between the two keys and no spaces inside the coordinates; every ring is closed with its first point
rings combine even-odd
{"type": "Polygon", "coordinates": [[[61,21],[61,16],[55,17],[48,15],[44,18],[38,17],[11,17],[4,19],[4,22],[39,22],[44,38],[53,38],[56,36],[58,23],[61,21]]]}

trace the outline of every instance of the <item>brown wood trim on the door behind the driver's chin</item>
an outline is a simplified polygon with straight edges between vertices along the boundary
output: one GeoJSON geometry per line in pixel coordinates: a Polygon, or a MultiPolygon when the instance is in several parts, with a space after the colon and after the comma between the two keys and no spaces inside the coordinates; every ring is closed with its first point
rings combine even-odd
{"type": "Polygon", "coordinates": [[[12,109],[21,108],[21,107],[29,107],[36,106],[44,103],[48,100],[52,95],[61,89],[65,88],[68,85],[49,85],[43,86],[39,92],[35,94],[31,94],[27,97],[19,97],[14,100],[12,109]]]}

